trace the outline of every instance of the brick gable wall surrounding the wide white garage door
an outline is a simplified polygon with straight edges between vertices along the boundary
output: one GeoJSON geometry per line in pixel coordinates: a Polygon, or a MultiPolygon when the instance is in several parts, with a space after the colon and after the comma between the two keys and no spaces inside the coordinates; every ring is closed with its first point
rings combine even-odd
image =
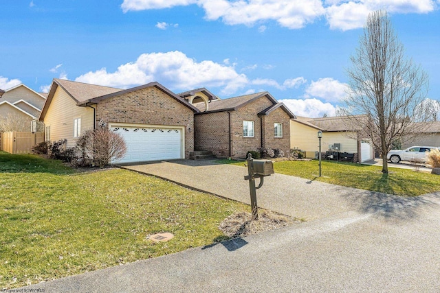
{"type": "Polygon", "coordinates": [[[96,106],[99,121],[185,126],[185,157],[194,150],[194,113],[155,86],[103,99],[96,106]]]}

